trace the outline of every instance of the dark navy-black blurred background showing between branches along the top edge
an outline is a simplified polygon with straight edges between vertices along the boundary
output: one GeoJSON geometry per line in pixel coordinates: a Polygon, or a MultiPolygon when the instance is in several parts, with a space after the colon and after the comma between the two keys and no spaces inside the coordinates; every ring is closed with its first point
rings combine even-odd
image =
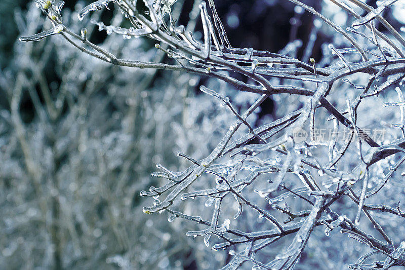
{"type": "MultiPolygon", "coordinates": [[[[16,10],[26,10],[28,0],[3,0],[0,2],[0,68],[4,68],[12,53],[13,44],[18,36],[18,29],[14,21],[14,12],[16,10]]],[[[321,10],[322,1],[306,0],[304,4],[312,6],[315,10],[321,10]]],[[[66,1],[65,8],[74,9],[76,1],[66,1]]],[[[91,1],[84,1],[85,4],[91,1]]],[[[278,52],[291,41],[290,19],[294,16],[294,5],[288,1],[277,0],[216,0],[218,14],[223,19],[224,26],[227,30],[228,38],[231,45],[236,48],[255,48],[256,50],[267,50],[278,52]],[[230,18],[230,19],[229,19],[230,18]],[[237,23],[234,18],[238,18],[237,23]],[[230,23],[227,23],[230,22],[230,23]]],[[[376,7],[376,0],[367,1],[368,5],[376,7]]],[[[111,4],[110,4],[111,5],[111,4]]],[[[188,18],[188,10],[191,10],[193,1],[184,2],[184,12],[180,18],[180,24],[184,24],[188,18]]],[[[103,19],[108,19],[110,13],[103,12],[103,19]]],[[[386,16],[391,23],[392,18],[386,16]]],[[[299,38],[303,44],[306,44],[308,34],[312,28],[312,15],[304,12],[300,16],[299,30],[296,38],[299,38]]],[[[395,22],[393,26],[395,26],[395,22]]],[[[198,25],[197,27],[200,27],[198,25]]],[[[105,38],[105,32],[98,32],[97,40],[102,41],[105,38]]],[[[322,43],[327,42],[330,37],[318,36],[315,44],[314,54],[320,54],[319,47],[322,43]]],[[[302,49],[298,56],[302,55],[302,49]]]]}

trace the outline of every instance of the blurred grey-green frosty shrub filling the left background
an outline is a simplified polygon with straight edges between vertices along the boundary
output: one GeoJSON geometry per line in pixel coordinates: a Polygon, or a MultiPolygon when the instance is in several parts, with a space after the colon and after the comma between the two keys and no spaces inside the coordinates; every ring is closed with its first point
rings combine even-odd
{"type": "MultiPolygon", "coordinates": [[[[63,11],[74,31],[82,28],[77,12],[84,7],[63,11]]],[[[51,25],[34,3],[16,21],[21,35],[51,25]]],[[[115,38],[108,36],[104,48],[144,61],[164,57],[142,39],[115,38]]],[[[198,143],[218,140],[233,119],[211,99],[193,97],[199,78],[173,72],[155,79],[156,69],[100,64],[58,37],[17,42],[14,51],[0,72],[0,268],[150,269],[168,267],[169,257],[172,266],[208,260],[203,252],[190,254],[191,240],[167,226],[167,217],[143,214],[139,201],[142,189],[158,183],[150,178],[156,163],[181,164],[173,148],[208,155],[198,143]],[[221,117],[196,126],[212,114],[221,117]],[[186,140],[192,132],[198,136],[186,140]]]]}

